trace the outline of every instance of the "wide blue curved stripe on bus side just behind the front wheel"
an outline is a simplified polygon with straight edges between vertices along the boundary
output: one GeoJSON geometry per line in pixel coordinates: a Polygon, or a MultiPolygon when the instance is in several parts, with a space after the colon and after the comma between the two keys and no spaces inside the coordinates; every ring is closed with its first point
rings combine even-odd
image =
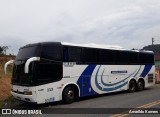
{"type": "Polygon", "coordinates": [[[77,84],[80,88],[80,96],[88,96],[97,94],[91,86],[91,77],[96,65],[88,65],[79,77],[77,84]],[[91,88],[91,90],[89,90],[91,88]]]}

